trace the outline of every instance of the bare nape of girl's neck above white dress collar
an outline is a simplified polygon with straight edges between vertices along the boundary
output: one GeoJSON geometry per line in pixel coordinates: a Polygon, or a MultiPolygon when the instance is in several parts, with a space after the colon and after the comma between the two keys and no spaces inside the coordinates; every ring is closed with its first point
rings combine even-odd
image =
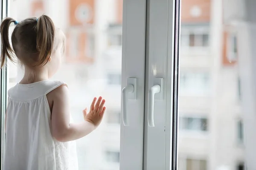
{"type": "Polygon", "coordinates": [[[46,69],[40,68],[37,70],[31,70],[25,68],[25,73],[23,79],[20,81],[20,84],[30,84],[34,82],[40,82],[43,80],[49,79],[48,71],[46,69]]]}

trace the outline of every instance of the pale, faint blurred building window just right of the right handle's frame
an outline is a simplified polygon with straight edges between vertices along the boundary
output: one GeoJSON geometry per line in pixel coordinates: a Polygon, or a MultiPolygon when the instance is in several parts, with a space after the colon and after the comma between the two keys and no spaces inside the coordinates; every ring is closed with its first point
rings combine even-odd
{"type": "Polygon", "coordinates": [[[209,93],[209,74],[196,72],[180,73],[181,95],[205,95],[209,93]]]}

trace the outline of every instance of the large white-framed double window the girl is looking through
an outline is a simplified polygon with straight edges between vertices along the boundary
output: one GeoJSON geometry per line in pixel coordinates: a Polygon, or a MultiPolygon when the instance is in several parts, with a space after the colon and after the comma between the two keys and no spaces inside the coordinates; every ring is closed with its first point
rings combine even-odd
{"type": "MultiPolygon", "coordinates": [[[[2,9],[10,8],[10,11],[1,11],[3,15],[9,14],[19,21],[33,17],[31,0],[8,1],[8,8],[4,6],[5,1],[2,1],[2,9]]],[[[60,1],[41,1],[47,7],[42,12],[54,18],[56,25],[70,35],[64,58],[80,54],[94,57],[85,59],[84,63],[64,62],[54,77],[69,85],[70,112],[74,112],[75,122],[82,120],[80,111],[90,105],[95,95],[104,96],[110,109],[96,133],[78,140],[79,160],[86,160],[79,161],[80,169],[171,170],[175,169],[172,163],[177,163],[183,165],[179,170],[244,170],[244,164],[236,161],[243,158],[247,166],[251,166],[246,168],[256,167],[253,159],[256,139],[251,137],[252,129],[256,129],[253,120],[256,113],[256,28],[250,23],[256,17],[256,4],[248,0],[239,3],[229,0],[223,3],[222,0],[105,0],[101,3],[69,0],[64,5],[60,1]],[[123,17],[119,8],[122,5],[123,17]],[[241,9],[244,6],[246,10],[241,9]],[[248,20],[243,20],[244,16],[248,20]],[[123,20],[120,22],[117,18],[123,20]],[[86,36],[87,40],[79,37],[85,30],[92,34],[92,37],[86,36]],[[227,37],[224,37],[226,32],[227,37]],[[86,51],[80,39],[88,41],[86,51]],[[118,49],[113,54],[119,54],[121,47],[122,62],[102,55],[109,54],[107,50],[112,53],[112,49],[118,49]],[[106,60],[111,69],[106,69],[106,60]],[[132,77],[136,81],[128,81],[132,77]],[[132,87],[137,89],[131,92],[132,87]],[[127,95],[121,95],[120,88],[127,95]],[[237,96],[241,102],[234,99],[237,96]],[[127,107],[120,110],[121,99],[127,107]],[[178,111],[193,114],[180,116],[178,124],[178,111]],[[244,122],[236,120],[241,112],[244,112],[244,122]],[[201,113],[207,114],[196,117],[201,113]],[[129,123],[124,125],[126,120],[129,123]],[[245,125],[249,128],[244,129],[245,125]],[[116,127],[113,131],[118,131],[111,139],[104,136],[102,130],[108,127],[116,127]],[[180,132],[192,134],[192,137],[177,140],[180,132]],[[198,133],[207,134],[207,138],[198,138],[198,133]],[[234,145],[243,142],[245,134],[249,141],[243,143],[246,146],[234,145]],[[177,153],[186,155],[182,162],[176,159],[177,153]],[[106,165],[99,164],[99,160],[104,160],[106,165]]],[[[13,81],[20,79],[21,72],[9,67],[6,88],[4,71],[1,70],[2,105],[6,102],[6,90],[15,85],[13,81]]],[[[1,115],[4,115],[4,106],[1,108],[1,115]]],[[[4,139],[3,123],[1,125],[1,139],[4,139]]]]}

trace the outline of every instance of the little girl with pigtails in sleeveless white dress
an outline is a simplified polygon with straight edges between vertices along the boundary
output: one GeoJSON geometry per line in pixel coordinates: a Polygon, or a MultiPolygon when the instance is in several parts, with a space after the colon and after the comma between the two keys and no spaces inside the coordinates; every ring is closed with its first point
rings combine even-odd
{"type": "Polygon", "coordinates": [[[23,79],[8,91],[4,170],[77,170],[76,139],[88,135],[102,121],[105,100],[96,98],[84,121],[70,122],[68,88],[49,80],[61,65],[64,34],[47,15],[12,18],[1,26],[1,68],[12,54],[24,65],[23,79]],[[15,23],[12,47],[9,26],[15,23]]]}

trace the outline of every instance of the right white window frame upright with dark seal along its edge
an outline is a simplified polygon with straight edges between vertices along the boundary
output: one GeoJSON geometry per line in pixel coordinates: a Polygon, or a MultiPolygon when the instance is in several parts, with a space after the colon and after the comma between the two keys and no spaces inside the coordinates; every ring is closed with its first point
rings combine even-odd
{"type": "Polygon", "coordinates": [[[179,42],[180,0],[147,1],[143,170],[177,169],[179,42]]]}

